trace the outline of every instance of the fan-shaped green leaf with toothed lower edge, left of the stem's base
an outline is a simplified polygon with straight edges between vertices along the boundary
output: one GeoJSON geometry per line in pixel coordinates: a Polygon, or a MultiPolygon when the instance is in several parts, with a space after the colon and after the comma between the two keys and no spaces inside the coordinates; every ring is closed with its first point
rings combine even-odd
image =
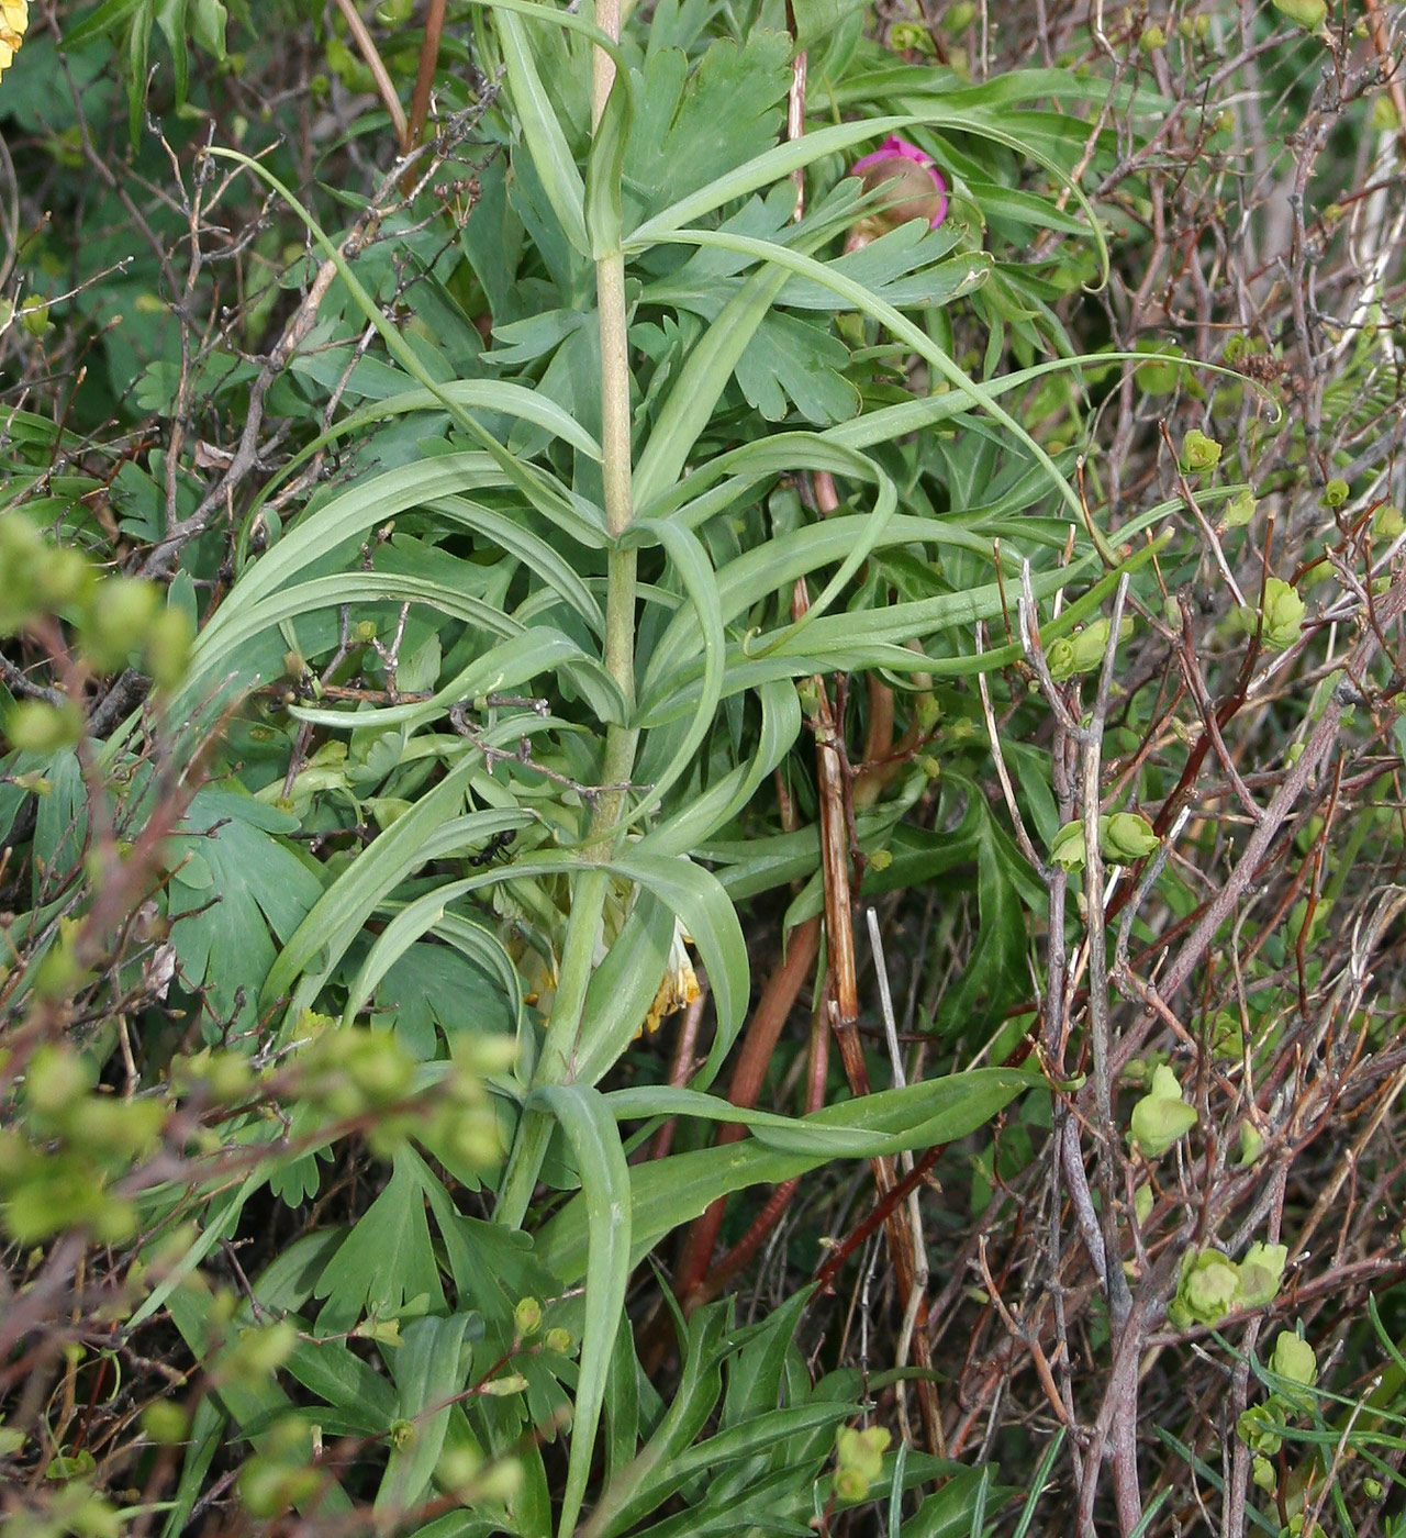
{"type": "Polygon", "coordinates": [[[406,1154],[395,1155],[386,1189],[328,1261],[314,1297],[326,1298],[317,1317],[323,1335],[349,1330],[365,1313],[395,1315],[421,1297],[445,1312],[421,1186],[406,1154]]]}

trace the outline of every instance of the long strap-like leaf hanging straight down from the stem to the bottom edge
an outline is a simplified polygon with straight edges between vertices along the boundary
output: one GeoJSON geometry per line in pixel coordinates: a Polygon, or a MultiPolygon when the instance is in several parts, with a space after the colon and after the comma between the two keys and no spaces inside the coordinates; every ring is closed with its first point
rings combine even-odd
{"type": "Polygon", "coordinates": [[[557,1527],[560,1538],[569,1538],[575,1530],[591,1478],[591,1456],[605,1403],[611,1349],[625,1312],[625,1289],[631,1269],[629,1166],[625,1163],[615,1121],[594,1089],[581,1084],[545,1084],[532,1092],[531,1104],[549,1110],[571,1141],[581,1172],[580,1200],[588,1227],[581,1367],[566,1490],[557,1527]]]}

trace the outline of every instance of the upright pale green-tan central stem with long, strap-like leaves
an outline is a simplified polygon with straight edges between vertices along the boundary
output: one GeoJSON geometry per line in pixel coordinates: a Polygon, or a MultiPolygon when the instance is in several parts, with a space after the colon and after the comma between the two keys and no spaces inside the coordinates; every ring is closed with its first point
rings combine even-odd
{"type": "MultiPolygon", "coordinates": [[[[595,25],[620,37],[620,0],[595,0],[595,25]]],[[[591,125],[600,128],[606,100],[615,80],[615,62],[601,49],[591,57],[591,125]]],[[[608,251],[595,263],[595,306],[600,317],[600,400],[601,400],[601,474],[605,480],[606,528],[612,546],[606,568],[606,634],[605,666],[615,680],[623,701],[618,723],[606,727],[601,755],[601,794],[591,818],[588,851],[609,854],[612,835],[620,824],[625,791],[635,763],[635,564],[634,549],[623,549],[620,538],[634,518],[631,486],[629,434],[629,338],[625,308],[625,255],[608,251]]],[[[535,1084],[571,1080],[586,990],[595,969],[595,950],[601,935],[601,915],[609,895],[609,878],[603,871],[586,871],[572,892],[571,918],[561,946],[561,972],[557,997],[548,1023],[546,1041],[534,1074],[535,1084]]],[[[541,1170],[551,1138],[552,1121],[541,1112],[529,1110],[518,1124],[508,1170],[498,1195],[497,1220],[518,1227],[532,1200],[532,1187],[541,1170]]]]}

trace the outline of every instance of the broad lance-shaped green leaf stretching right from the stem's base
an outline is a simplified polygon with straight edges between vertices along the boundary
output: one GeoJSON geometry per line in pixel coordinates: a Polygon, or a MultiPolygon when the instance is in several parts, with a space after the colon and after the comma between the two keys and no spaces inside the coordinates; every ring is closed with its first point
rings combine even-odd
{"type": "MultiPolygon", "coordinates": [[[[797,1118],[794,1137],[808,1138],[817,1129],[821,1134],[806,1152],[768,1147],[760,1140],[749,1138],[745,1143],[674,1154],[631,1166],[631,1263],[638,1264],[666,1233],[692,1221],[718,1197],[748,1186],[780,1184],[829,1163],[831,1155],[823,1152],[826,1146],[843,1141],[841,1157],[869,1158],[949,1143],[989,1121],[1037,1081],[1031,1074],[1011,1069],[972,1069],[906,1089],[866,1095],[797,1118]],[[852,1138],[855,1129],[868,1134],[863,1144],[852,1138]],[[834,1143],[828,1144],[825,1134],[834,1134],[834,1143]],[[857,1146],[865,1149],[863,1155],[854,1152],[857,1146]]],[[[631,1090],[631,1095],[638,1094],[640,1098],[625,1101],[617,1098],[620,1094],[623,1092],[617,1090],[608,1097],[612,1110],[625,1104],[632,1114],[652,1114],[648,1109],[648,1090],[631,1090]]],[[[748,1114],[728,1104],[726,1110],[718,1110],[717,1120],[746,1121],[748,1114]]],[[[581,1200],[574,1198],[541,1230],[538,1258],[565,1283],[572,1284],[585,1272],[586,1238],[586,1213],[581,1200]]]]}

